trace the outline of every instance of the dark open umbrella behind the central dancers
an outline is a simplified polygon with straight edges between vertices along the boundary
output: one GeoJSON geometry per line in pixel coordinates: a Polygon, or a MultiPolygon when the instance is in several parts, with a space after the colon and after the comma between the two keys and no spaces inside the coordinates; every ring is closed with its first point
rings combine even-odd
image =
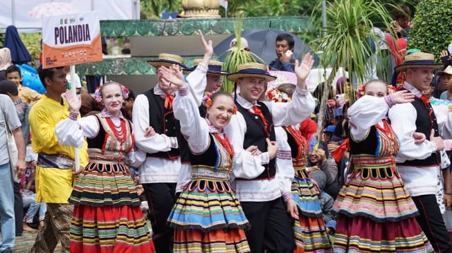
{"type": "MultiPolygon", "coordinates": [[[[273,59],[276,59],[276,37],[281,33],[289,33],[292,35],[293,40],[295,41],[295,46],[293,47],[294,59],[300,60],[305,53],[311,53],[311,55],[314,55],[314,66],[318,65],[320,59],[315,55],[314,51],[312,51],[298,36],[291,32],[274,30],[271,28],[255,28],[244,30],[242,32],[242,37],[248,41],[248,47],[251,49],[251,52],[260,57],[264,61],[264,64],[269,64],[273,59]]],[[[226,51],[229,49],[230,41],[234,38],[235,35],[230,35],[213,48],[213,53],[215,53],[220,60],[224,60],[224,57],[226,57],[226,51]]]]}

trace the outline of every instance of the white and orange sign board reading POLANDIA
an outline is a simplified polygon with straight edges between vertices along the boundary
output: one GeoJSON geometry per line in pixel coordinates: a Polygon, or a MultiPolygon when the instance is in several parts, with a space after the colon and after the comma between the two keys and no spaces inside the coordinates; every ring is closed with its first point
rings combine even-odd
{"type": "Polygon", "coordinates": [[[43,68],[102,61],[98,12],[42,18],[43,68]]]}

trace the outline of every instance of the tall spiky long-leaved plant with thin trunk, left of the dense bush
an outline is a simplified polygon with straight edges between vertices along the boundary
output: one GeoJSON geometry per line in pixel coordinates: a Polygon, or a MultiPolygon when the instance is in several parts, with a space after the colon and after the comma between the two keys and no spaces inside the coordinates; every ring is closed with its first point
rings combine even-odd
{"type": "MultiPolygon", "coordinates": [[[[320,9],[320,4],[317,6],[318,9],[320,9]]],[[[352,82],[354,79],[365,79],[366,64],[376,64],[371,60],[372,52],[369,50],[368,42],[378,40],[377,35],[371,32],[371,28],[374,26],[372,20],[382,20],[383,24],[390,24],[392,20],[386,6],[376,0],[335,0],[327,3],[326,12],[327,27],[321,31],[326,35],[314,41],[314,44],[317,45],[316,51],[324,52],[320,57],[321,64],[332,67],[331,75],[325,77],[325,88],[323,88],[322,100],[320,100],[317,129],[319,135],[323,129],[328,94],[339,68],[343,67],[348,71],[352,82]]],[[[340,73],[340,75],[344,74],[340,73]]],[[[343,92],[349,95],[351,102],[354,101],[352,86],[343,92]]]]}

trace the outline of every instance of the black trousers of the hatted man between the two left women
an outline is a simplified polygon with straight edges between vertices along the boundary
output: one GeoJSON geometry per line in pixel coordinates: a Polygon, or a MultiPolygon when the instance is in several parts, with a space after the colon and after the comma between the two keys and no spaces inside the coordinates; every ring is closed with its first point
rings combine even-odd
{"type": "Polygon", "coordinates": [[[174,230],[166,225],[172,207],[176,203],[176,183],[156,182],[142,184],[149,205],[150,221],[154,236],[154,246],[157,253],[172,252],[174,230]]]}

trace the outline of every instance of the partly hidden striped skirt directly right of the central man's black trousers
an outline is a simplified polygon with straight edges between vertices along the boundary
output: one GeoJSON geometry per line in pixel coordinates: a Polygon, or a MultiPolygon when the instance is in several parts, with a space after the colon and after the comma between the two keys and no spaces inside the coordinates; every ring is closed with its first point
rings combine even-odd
{"type": "Polygon", "coordinates": [[[299,217],[293,223],[296,245],[294,252],[332,252],[318,191],[305,171],[296,171],[291,191],[293,200],[298,205],[299,217]]]}

